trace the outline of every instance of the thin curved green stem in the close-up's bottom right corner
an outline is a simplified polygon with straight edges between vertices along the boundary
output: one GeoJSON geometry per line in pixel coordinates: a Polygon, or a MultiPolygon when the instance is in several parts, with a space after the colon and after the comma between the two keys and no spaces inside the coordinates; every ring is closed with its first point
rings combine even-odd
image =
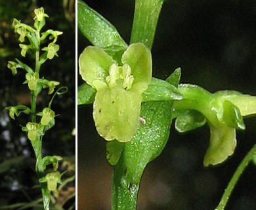
{"type": "Polygon", "coordinates": [[[215,210],[224,210],[226,203],[228,203],[228,200],[230,198],[230,194],[234,190],[234,187],[236,186],[236,183],[240,179],[240,176],[244,172],[245,168],[256,154],[256,144],[251,148],[251,150],[247,153],[247,155],[244,157],[240,165],[238,166],[238,169],[236,169],[236,172],[234,173],[232,179],[228,183],[228,186],[226,187],[226,190],[223,194],[223,197],[221,198],[221,201],[219,202],[219,205],[216,207],[215,210]]]}

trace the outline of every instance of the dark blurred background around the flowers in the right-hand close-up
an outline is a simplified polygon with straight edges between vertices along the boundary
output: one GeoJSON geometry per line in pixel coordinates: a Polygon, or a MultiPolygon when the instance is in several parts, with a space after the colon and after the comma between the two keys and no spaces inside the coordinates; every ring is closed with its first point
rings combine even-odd
{"type": "MultiPolygon", "coordinates": [[[[85,1],[116,26],[129,43],[134,1],[85,1]]],[[[154,77],[166,79],[181,67],[181,83],[211,91],[234,89],[255,95],[256,1],[167,0],[163,3],[152,57],[154,77]]],[[[78,54],[89,45],[78,34],[78,54]]],[[[79,83],[82,83],[79,78],[79,83]]],[[[215,209],[228,181],[255,144],[256,119],[245,119],[237,131],[232,158],[218,167],[203,168],[209,127],[181,135],[171,127],[161,156],[142,177],[138,209],[215,209]]],[[[238,182],[227,210],[256,209],[256,168],[250,164],[238,182]]],[[[112,167],[105,142],[96,131],[92,106],[78,108],[78,207],[110,209],[112,167]]]]}

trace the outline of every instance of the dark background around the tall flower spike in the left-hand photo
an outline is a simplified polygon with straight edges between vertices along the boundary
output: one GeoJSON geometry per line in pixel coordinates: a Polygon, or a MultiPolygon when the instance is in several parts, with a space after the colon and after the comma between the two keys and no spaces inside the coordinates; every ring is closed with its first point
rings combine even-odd
{"type": "MultiPolygon", "coordinates": [[[[18,104],[30,107],[31,96],[28,85],[22,85],[25,81],[24,70],[18,69],[18,74],[13,76],[11,70],[7,68],[7,62],[18,58],[32,68],[35,65],[31,56],[26,55],[25,58],[21,56],[21,49],[18,46],[19,35],[14,33],[12,21],[16,18],[33,26],[33,11],[39,7],[44,7],[45,13],[49,15],[41,32],[49,29],[63,31],[56,41],[56,44],[60,45],[58,57],[47,60],[41,66],[40,77],[60,81],[57,88],[68,87],[68,93],[56,96],[53,100],[51,108],[59,116],[55,117],[54,127],[45,133],[42,152],[43,156],[62,156],[65,163],[70,164],[70,167],[60,164],[61,171],[68,170],[62,180],[72,177],[75,173],[75,136],[72,135],[75,128],[74,6],[73,0],[0,1],[0,209],[3,205],[30,203],[41,197],[35,173],[35,154],[30,140],[20,127],[20,125],[26,126],[26,123],[31,121],[31,117],[21,114],[14,121],[5,110],[6,106],[18,104]]],[[[48,89],[43,89],[37,96],[37,112],[48,106],[53,95],[47,93],[48,89]]],[[[67,198],[74,191],[75,181],[62,189],[57,202],[67,198]]],[[[68,209],[74,201],[75,198],[69,200],[64,209],[68,209]]]]}

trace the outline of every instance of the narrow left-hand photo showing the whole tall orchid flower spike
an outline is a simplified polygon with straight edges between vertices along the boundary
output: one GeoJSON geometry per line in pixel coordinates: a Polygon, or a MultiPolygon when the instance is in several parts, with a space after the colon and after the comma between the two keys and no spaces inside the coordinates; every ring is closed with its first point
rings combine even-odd
{"type": "Polygon", "coordinates": [[[75,0],[0,2],[0,209],[75,209],[75,0]]]}

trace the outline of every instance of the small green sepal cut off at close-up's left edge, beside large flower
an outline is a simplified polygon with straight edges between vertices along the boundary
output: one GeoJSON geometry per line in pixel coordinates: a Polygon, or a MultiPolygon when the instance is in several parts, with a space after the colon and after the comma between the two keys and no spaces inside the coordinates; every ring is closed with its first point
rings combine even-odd
{"type": "Polygon", "coordinates": [[[77,105],[93,104],[95,101],[96,89],[83,83],[77,88],[77,105]]]}

